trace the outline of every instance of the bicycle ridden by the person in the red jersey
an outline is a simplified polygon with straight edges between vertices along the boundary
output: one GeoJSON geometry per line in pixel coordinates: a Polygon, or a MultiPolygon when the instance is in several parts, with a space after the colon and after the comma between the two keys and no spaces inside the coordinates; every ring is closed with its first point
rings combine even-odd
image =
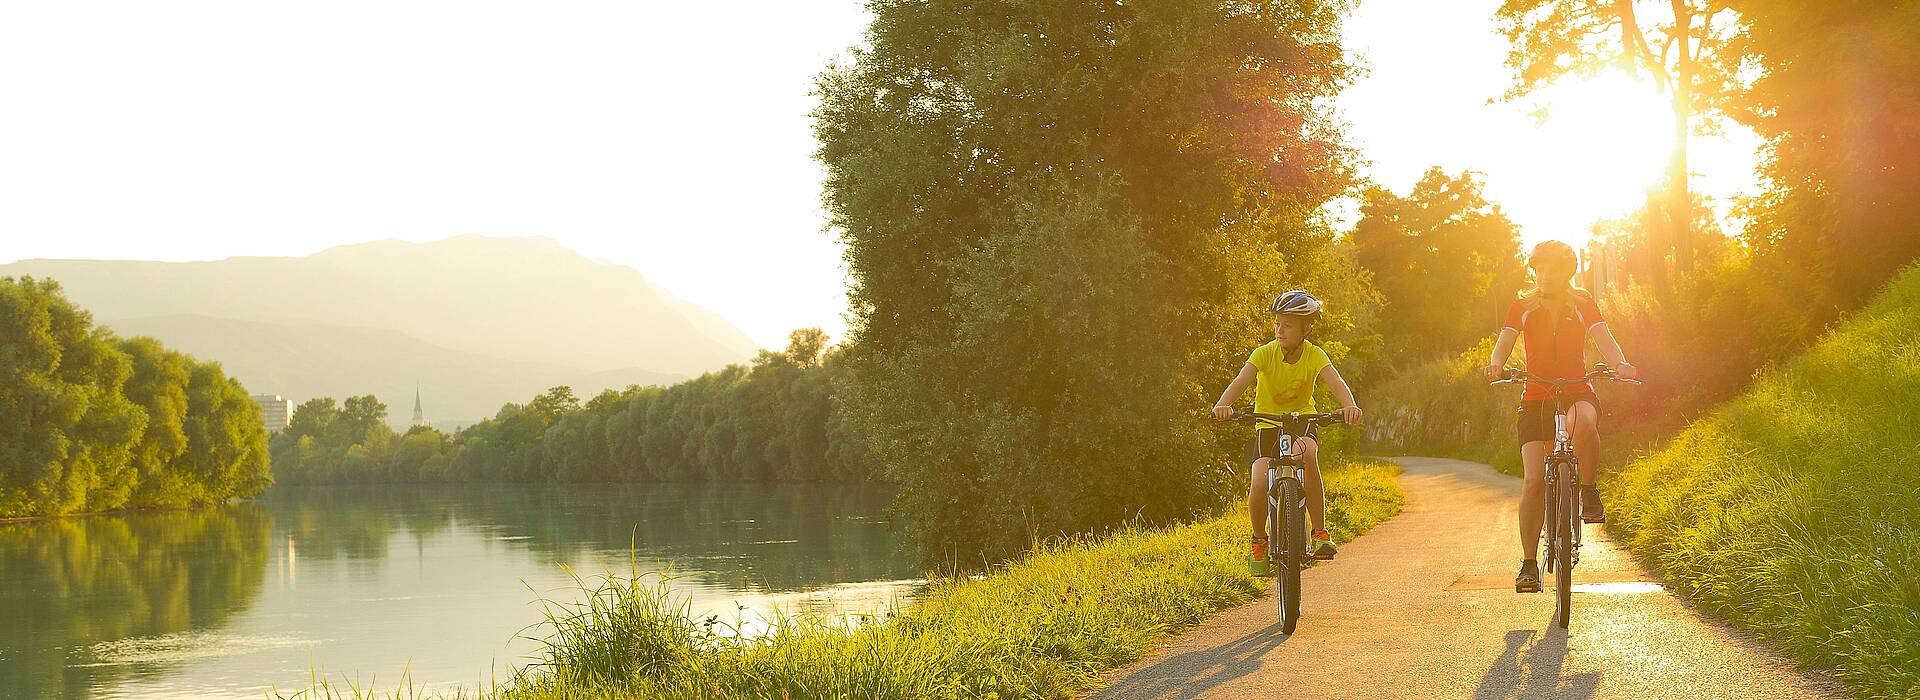
{"type": "Polygon", "coordinates": [[[1542,499],[1546,506],[1546,520],[1540,522],[1542,539],[1548,545],[1546,550],[1546,570],[1553,573],[1553,623],[1567,629],[1572,619],[1572,568],[1580,564],[1580,458],[1572,453],[1572,435],[1567,432],[1567,385],[1588,384],[1594,380],[1609,380],[1620,384],[1642,384],[1640,380],[1624,380],[1615,374],[1605,362],[1594,362],[1594,370],[1576,380],[1549,380],[1532,372],[1505,368],[1500,372],[1500,380],[1488,385],[1501,384],[1546,384],[1553,387],[1553,449],[1548,453],[1546,472],[1548,497],[1542,499]]]}

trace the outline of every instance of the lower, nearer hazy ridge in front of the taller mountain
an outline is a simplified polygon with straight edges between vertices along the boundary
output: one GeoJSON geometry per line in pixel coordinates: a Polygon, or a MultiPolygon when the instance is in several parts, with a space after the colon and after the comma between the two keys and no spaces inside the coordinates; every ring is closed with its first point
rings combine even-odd
{"type": "Polygon", "coordinates": [[[507,401],[526,403],[553,385],[588,399],[630,384],[672,384],[684,374],[639,368],[580,372],[557,364],[503,361],[420,341],[396,330],[265,324],[211,316],[152,316],[108,322],[121,336],[154,336],[177,351],[219,361],[252,393],[278,393],[301,403],[372,393],[388,422],[413,418],[419,387],[426,418],[472,424],[507,401]]]}

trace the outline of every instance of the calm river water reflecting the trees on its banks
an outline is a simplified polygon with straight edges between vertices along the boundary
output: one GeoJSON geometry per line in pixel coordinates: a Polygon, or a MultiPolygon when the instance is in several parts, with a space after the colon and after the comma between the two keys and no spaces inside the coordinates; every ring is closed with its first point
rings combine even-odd
{"type": "Polygon", "coordinates": [[[538,598],[672,570],[695,612],[877,612],[920,583],[841,485],[276,487],[194,512],[0,525],[0,698],[259,698],[309,673],[505,681],[538,598]]]}

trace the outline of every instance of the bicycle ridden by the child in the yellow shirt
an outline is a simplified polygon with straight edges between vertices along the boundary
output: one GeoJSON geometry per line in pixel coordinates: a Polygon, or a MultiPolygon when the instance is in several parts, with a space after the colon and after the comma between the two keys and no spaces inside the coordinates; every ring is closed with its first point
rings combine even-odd
{"type": "Polygon", "coordinates": [[[1300,623],[1300,570],[1308,566],[1308,489],[1306,462],[1294,455],[1294,439],[1308,426],[1334,426],[1336,412],[1235,412],[1233,420],[1256,420],[1279,428],[1279,455],[1267,464],[1267,562],[1275,566],[1273,598],[1281,608],[1281,633],[1292,635],[1300,623]]]}

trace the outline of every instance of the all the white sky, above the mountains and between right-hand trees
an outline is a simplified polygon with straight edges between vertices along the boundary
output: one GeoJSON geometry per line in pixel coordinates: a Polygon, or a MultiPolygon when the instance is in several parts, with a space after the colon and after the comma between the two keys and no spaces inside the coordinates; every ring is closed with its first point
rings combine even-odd
{"type": "MultiPolygon", "coordinates": [[[[1665,163],[1659,102],[1569,90],[1536,125],[1496,0],[1363,0],[1340,98],[1382,184],[1486,175],[1528,242],[1584,240],[1665,163]]],[[[307,255],[378,238],[551,236],[781,347],[845,332],[812,77],[866,13],[833,2],[0,4],[0,261],[307,255]]],[[[1611,92],[1609,92],[1611,90],[1611,92]]],[[[1695,142],[1695,186],[1751,180],[1695,142]]]]}

